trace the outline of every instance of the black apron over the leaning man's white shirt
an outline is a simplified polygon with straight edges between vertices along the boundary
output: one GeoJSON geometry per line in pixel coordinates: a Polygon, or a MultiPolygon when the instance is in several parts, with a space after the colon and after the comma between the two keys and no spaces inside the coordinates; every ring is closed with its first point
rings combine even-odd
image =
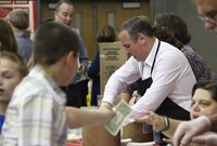
{"type": "MultiPolygon", "coordinates": [[[[152,76],[152,71],[154,68],[154,64],[155,64],[155,59],[156,59],[156,55],[158,53],[159,50],[159,45],[161,45],[161,41],[158,41],[158,45],[156,49],[156,53],[154,56],[154,61],[152,64],[152,68],[151,68],[151,76],[152,76]]],[[[146,92],[146,89],[149,89],[153,82],[152,77],[142,80],[141,78],[137,80],[137,82],[139,83],[139,89],[138,89],[138,94],[139,95],[143,95],[146,92]]],[[[179,105],[177,105],[176,103],[174,103],[169,97],[166,97],[164,99],[164,102],[159,105],[159,107],[155,110],[156,114],[162,115],[162,116],[166,116],[173,119],[178,119],[178,120],[190,120],[190,112],[187,111],[186,109],[183,109],[182,107],[180,107],[179,105]]],[[[163,143],[162,138],[166,137],[161,133],[154,132],[154,141],[156,144],[164,146],[166,145],[165,143],[163,143]],[[159,137],[157,137],[159,136],[159,137]]]]}

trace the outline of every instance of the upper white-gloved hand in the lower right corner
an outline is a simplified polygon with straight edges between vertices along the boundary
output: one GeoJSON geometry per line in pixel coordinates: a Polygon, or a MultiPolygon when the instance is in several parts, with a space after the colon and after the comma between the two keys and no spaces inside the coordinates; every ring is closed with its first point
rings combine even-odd
{"type": "Polygon", "coordinates": [[[192,138],[196,135],[205,133],[210,130],[210,122],[207,117],[201,116],[194,120],[186,121],[177,128],[173,142],[174,146],[190,144],[192,138]]]}

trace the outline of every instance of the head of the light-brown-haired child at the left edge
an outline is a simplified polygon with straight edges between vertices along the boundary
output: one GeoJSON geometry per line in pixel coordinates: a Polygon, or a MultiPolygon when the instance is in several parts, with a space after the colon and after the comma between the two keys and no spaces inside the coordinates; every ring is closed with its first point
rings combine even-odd
{"type": "Polygon", "coordinates": [[[12,52],[0,52],[0,103],[9,103],[15,87],[27,75],[23,58],[12,52]]]}

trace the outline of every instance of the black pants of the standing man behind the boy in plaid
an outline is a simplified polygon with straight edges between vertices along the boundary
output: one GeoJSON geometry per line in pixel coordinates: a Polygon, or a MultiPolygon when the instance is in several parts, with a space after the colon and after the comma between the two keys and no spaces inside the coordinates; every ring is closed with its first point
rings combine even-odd
{"type": "Polygon", "coordinates": [[[68,87],[61,87],[61,89],[67,97],[66,106],[87,106],[88,80],[80,81],[77,84],[69,84],[68,87]]]}

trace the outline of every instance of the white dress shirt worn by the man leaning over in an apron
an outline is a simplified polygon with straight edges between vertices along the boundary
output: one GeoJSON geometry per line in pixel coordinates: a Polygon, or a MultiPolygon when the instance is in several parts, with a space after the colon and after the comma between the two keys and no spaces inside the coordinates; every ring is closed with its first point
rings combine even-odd
{"type": "Polygon", "coordinates": [[[130,57],[108,79],[102,102],[113,103],[122,91],[123,85],[135,82],[140,77],[142,80],[152,77],[153,83],[139,102],[132,106],[128,122],[143,116],[146,111],[155,111],[162,102],[169,97],[177,105],[190,111],[191,91],[196,82],[191,66],[181,51],[161,41],[153,72],[151,67],[156,53],[158,39],[144,62],[130,57]]]}

